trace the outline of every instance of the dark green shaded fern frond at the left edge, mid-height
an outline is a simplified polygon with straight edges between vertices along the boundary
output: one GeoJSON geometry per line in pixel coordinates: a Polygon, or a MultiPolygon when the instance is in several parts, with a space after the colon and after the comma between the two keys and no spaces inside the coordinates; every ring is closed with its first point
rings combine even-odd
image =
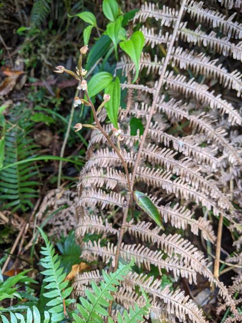
{"type": "MultiPolygon", "coordinates": [[[[30,158],[36,153],[37,146],[33,139],[28,137],[29,129],[16,126],[5,133],[5,159],[3,166],[14,164],[17,161],[30,158]]],[[[26,212],[33,208],[32,198],[38,197],[34,177],[38,169],[33,163],[10,166],[0,170],[0,206],[1,209],[12,209],[15,212],[21,209],[26,212]]]]}

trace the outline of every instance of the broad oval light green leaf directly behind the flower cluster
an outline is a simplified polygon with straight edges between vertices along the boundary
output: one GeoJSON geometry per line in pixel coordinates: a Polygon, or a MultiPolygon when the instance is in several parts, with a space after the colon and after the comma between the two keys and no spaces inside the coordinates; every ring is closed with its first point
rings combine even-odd
{"type": "Polygon", "coordinates": [[[88,82],[88,94],[90,97],[101,92],[112,82],[113,76],[107,72],[99,72],[91,77],[88,82]]]}

